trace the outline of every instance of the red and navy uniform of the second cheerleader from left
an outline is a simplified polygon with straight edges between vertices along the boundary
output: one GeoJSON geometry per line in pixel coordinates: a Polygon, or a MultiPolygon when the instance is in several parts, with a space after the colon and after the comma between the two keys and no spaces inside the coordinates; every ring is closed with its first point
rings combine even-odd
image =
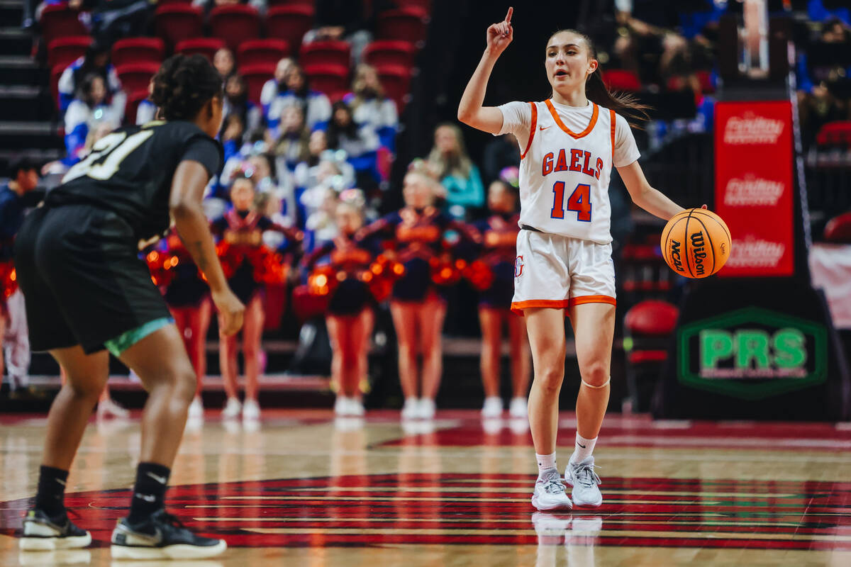
{"type": "Polygon", "coordinates": [[[260,291],[270,270],[292,264],[300,252],[298,230],[277,224],[254,211],[231,209],[215,219],[210,227],[214,235],[220,236],[219,256],[227,284],[243,303],[251,301],[254,293],[260,291]],[[274,260],[273,252],[264,246],[265,230],[275,230],[287,237],[283,247],[278,249],[283,258],[274,260]]]}

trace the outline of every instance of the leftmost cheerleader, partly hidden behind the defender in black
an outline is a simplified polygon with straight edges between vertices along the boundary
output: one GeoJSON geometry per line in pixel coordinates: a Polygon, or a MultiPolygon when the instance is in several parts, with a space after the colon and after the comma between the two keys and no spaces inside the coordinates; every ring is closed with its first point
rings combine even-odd
{"type": "MultiPolygon", "coordinates": [[[[195,368],[197,388],[195,398],[189,405],[189,418],[198,420],[204,415],[201,393],[203,379],[207,376],[206,340],[212,313],[209,287],[178,235],[169,234],[166,238],[166,251],[159,253],[163,258],[162,264],[168,267],[168,283],[163,286],[163,296],[174,317],[174,324],[183,336],[186,353],[195,368]]],[[[150,256],[151,254],[149,258],[150,256]]]]}

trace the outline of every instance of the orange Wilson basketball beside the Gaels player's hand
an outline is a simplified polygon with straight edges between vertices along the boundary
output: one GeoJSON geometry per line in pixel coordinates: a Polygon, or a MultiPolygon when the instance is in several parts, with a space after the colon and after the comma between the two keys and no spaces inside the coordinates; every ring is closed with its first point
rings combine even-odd
{"type": "Polygon", "coordinates": [[[662,256],[687,278],[705,278],[730,257],[730,230],[717,214],[690,208],[671,217],[662,230],[662,256]]]}

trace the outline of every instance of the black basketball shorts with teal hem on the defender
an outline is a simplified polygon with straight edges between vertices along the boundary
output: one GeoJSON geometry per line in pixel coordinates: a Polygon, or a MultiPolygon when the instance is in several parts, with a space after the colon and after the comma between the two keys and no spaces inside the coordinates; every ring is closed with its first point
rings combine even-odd
{"type": "Polygon", "coordinates": [[[133,230],[111,211],[36,209],[15,239],[15,269],[34,351],[117,354],[170,321],[133,230]]]}

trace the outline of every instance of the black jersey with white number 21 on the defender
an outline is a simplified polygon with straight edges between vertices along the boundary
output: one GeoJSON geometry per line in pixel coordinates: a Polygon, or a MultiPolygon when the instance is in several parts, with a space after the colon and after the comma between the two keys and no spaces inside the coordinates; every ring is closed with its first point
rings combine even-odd
{"type": "Polygon", "coordinates": [[[119,128],[98,140],[45,202],[112,211],[127,221],[138,240],[148,240],[168,230],[174,170],[188,160],[200,162],[212,177],[221,167],[221,146],[191,122],[119,128]]]}

